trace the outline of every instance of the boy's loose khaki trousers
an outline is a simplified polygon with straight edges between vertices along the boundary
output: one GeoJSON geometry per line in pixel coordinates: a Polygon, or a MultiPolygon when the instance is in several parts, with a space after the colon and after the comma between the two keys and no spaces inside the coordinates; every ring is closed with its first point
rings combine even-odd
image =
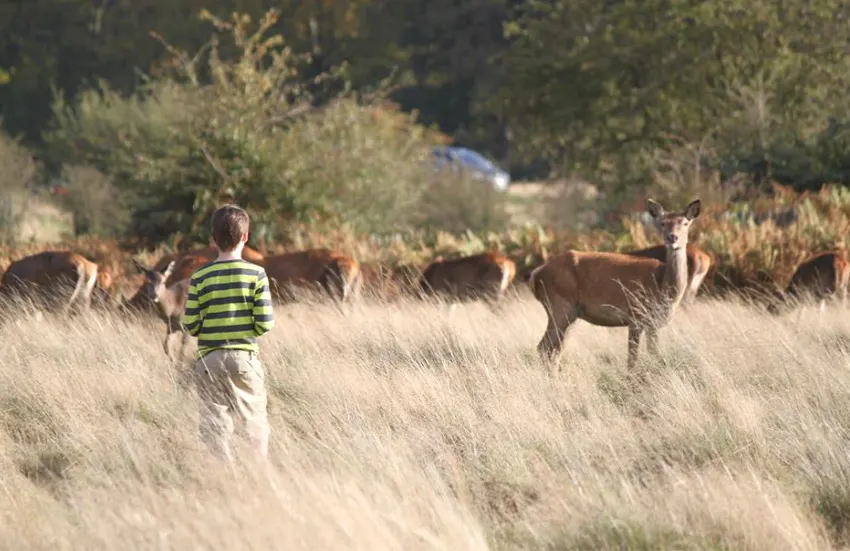
{"type": "Polygon", "coordinates": [[[265,374],[255,352],[213,350],[195,361],[201,438],[222,458],[233,460],[230,439],[236,416],[259,459],[268,457],[269,422],[265,374]]]}

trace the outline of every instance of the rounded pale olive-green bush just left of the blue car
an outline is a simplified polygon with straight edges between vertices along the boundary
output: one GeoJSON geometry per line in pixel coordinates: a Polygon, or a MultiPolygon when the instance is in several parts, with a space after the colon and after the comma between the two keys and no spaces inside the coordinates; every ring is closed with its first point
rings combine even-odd
{"type": "Polygon", "coordinates": [[[296,214],[356,233],[385,233],[418,221],[433,139],[392,106],[336,100],[291,125],[276,177],[296,214]]]}

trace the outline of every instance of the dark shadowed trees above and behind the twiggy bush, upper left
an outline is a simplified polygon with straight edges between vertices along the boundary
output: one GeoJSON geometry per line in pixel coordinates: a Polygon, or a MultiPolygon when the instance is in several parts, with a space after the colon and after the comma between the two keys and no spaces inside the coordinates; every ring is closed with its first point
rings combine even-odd
{"type": "MultiPolygon", "coordinates": [[[[13,134],[38,143],[52,117],[52,89],[76,99],[95,83],[129,94],[156,72],[162,48],[198,51],[209,40],[201,10],[280,17],[269,29],[292,51],[309,54],[308,76],[345,67],[356,88],[394,75],[395,99],[426,124],[468,135],[485,150],[474,107],[495,73],[487,58],[504,43],[508,0],[38,0],[0,3],[0,117],[13,134]]],[[[222,44],[222,59],[241,56],[222,44]]],[[[329,83],[327,83],[329,84],[329,83]]],[[[339,84],[339,81],[335,81],[339,84]]],[[[331,87],[330,95],[339,91],[331,87]]]]}

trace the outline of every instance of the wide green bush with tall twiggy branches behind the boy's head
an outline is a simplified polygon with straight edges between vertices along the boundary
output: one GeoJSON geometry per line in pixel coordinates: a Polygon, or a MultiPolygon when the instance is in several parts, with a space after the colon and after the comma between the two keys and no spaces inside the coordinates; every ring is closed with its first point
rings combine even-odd
{"type": "MultiPolygon", "coordinates": [[[[233,21],[213,19],[231,32],[241,59],[222,61],[217,40],[203,66],[170,50],[180,70],[129,98],[101,85],[54,106],[46,134],[53,160],[108,176],[129,208],[128,233],[149,243],[176,234],[206,241],[210,214],[227,202],[251,213],[258,241],[286,240],[304,227],[386,233],[501,223],[492,194],[430,183],[423,161],[440,135],[380,90],[316,106],[302,59],[281,37],[263,36],[273,14],[253,34],[245,20],[233,21]],[[435,197],[437,189],[446,195],[435,197]]],[[[333,78],[338,72],[319,80],[333,78]]],[[[98,185],[97,193],[109,193],[98,185]]],[[[107,233],[120,226],[86,223],[107,233]]]]}

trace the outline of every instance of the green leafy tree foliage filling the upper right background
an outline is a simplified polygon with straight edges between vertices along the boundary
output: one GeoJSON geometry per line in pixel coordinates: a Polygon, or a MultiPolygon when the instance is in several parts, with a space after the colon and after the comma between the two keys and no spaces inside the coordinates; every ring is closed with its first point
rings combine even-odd
{"type": "Polygon", "coordinates": [[[645,175],[671,138],[764,171],[846,117],[847,15],[841,0],[530,0],[491,105],[526,151],[597,178],[645,175]]]}

